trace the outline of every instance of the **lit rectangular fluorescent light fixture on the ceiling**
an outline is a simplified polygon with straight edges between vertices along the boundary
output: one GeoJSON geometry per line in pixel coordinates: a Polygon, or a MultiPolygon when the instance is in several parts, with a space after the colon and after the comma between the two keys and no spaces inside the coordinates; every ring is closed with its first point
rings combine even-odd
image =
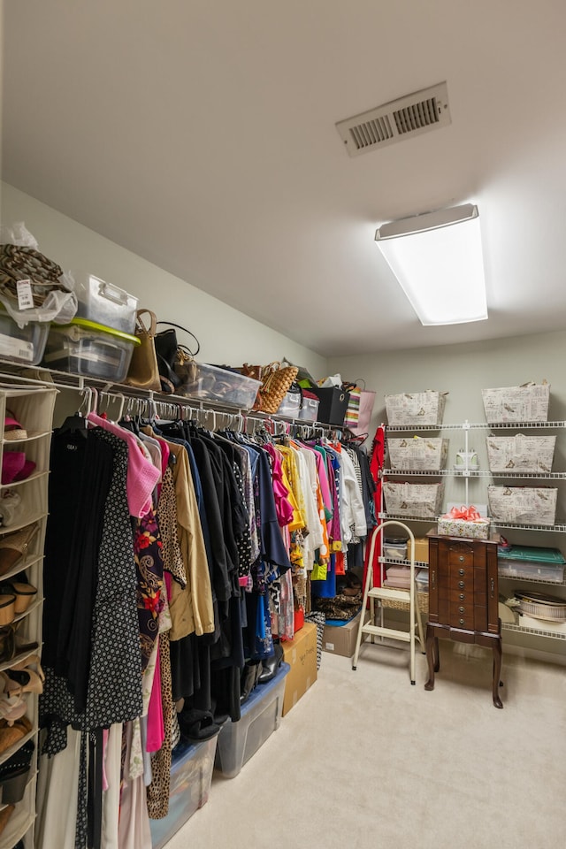
{"type": "Polygon", "coordinates": [[[375,240],[423,325],[487,318],[477,206],[402,218],[379,227],[375,240]]]}

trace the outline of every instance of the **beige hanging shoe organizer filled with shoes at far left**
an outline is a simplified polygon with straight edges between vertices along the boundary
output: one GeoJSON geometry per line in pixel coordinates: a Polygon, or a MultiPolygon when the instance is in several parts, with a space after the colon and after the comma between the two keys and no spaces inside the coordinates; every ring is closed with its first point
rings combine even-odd
{"type": "Polygon", "coordinates": [[[56,389],[0,388],[0,849],[34,845],[42,564],[56,389]]]}

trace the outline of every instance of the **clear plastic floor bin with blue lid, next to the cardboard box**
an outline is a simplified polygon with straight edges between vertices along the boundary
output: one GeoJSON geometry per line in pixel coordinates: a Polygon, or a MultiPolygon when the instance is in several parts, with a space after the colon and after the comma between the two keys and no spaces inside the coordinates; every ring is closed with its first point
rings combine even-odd
{"type": "Polygon", "coordinates": [[[289,664],[282,662],[279,672],[271,681],[256,685],[241,707],[239,722],[228,721],[220,729],[214,766],[226,778],[237,776],[243,765],[279,728],[285,678],[289,669],[289,664]]]}

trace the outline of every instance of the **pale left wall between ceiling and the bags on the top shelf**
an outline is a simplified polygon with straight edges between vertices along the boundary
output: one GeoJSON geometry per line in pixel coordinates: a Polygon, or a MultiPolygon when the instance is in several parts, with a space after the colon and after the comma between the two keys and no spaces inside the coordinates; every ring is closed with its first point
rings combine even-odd
{"type": "MultiPolygon", "coordinates": [[[[139,298],[157,318],[184,325],[201,343],[203,363],[238,366],[287,357],[317,378],[325,377],[325,357],[287,339],[253,318],[174,277],[141,256],[67,218],[7,183],[2,184],[2,223],[24,221],[46,256],[67,270],[96,274],[139,298]]],[[[111,198],[109,198],[111,203],[111,198]]],[[[179,333],[179,340],[183,334],[179,333]]]]}

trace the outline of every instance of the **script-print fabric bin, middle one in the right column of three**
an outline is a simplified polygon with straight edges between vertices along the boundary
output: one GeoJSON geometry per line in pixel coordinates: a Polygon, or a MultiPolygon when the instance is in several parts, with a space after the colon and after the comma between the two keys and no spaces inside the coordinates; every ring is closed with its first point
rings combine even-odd
{"type": "Polygon", "coordinates": [[[523,471],[532,474],[552,471],[555,436],[488,436],[487,461],[494,472],[523,471]]]}

